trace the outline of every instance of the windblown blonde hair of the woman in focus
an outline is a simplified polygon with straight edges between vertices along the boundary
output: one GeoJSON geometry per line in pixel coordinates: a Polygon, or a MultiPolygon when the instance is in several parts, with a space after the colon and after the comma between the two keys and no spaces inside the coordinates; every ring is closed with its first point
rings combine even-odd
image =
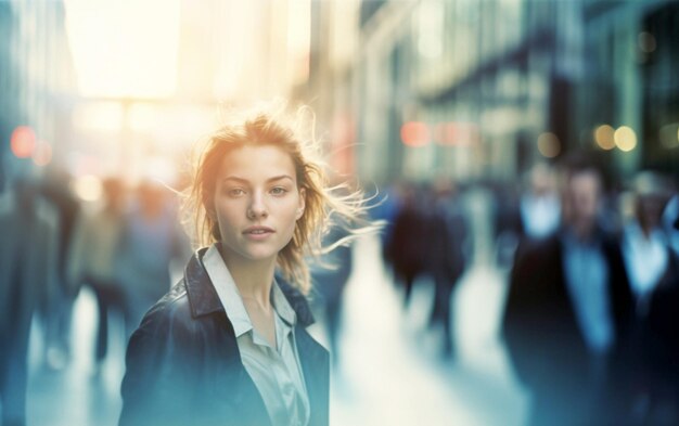
{"type": "Polygon", "coordinates": [[[206,138],[204,149],[198,149],[193,181],[184,203],[184,211],[192,216],[195,245],[206,246],[221,241],[214,212],[214,196],[223,157],[245,145],[282,149],[293,160],[297,186],[305,190],[305,209],[296,222],[291,242],[279,251],[277,266],[283,277],[304,294],[311,287],[306,256],[319,256],[338,245],[346,245],[356,235],[374,231],[377,227],[363,218],[367,199],[360,191],[347,193],[344,191],[346,185],[329,186],[319,156],[320,143],[312,134],[313,122],[308,107],[300,107],[292,115],[287,106],[280,103],[234,116],[206,138]],[[348,229],[346,238],[332,247],[322,247],[323,235],[337,223],[360,223],[361,228],[348,229]]]}

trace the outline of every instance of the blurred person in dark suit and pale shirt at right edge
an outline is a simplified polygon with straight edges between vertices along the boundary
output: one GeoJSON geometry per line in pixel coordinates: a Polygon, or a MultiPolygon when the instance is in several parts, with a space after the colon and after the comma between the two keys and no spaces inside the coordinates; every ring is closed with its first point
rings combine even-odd
{"type": "MultiPolygon", "coordinates": [[[[667,424],[658,417],[668,392],[671,363],[663,356],[665,345],[652,326],[651,301],[676,281],[677,264],[662,228],[663,208],[669,198],[665,179],[653,171],[639,172],[624,198],[633,211],[625,220],[623,258],[635,296],[635,322],[627,350],[625,379],[626,418],[638,424],[667,424]]],[[[657,307],[656,307],[657,309],[657,307]]],[[[657,312],[654,313],[654,317],[657,312]]],[[[676,422],[671,422],[676,423],[676,422]]]]}

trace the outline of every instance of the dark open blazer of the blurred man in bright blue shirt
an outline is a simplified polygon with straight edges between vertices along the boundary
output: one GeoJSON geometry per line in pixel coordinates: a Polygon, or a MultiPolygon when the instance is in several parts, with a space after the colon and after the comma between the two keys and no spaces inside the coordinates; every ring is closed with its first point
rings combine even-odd
{"type": "MultiPolygon", "coordinates": [[[[628,345],[633,300],[617,241],[602,235],[601,244],[616,335],[610,363],[615,364],[628,345]]],[[[587,377],[590,354],[566,284],[562,241],[556,233],[525,245],[514,261],[502,323],[510,362],[533,390],[578,388],[587,377]]]]}

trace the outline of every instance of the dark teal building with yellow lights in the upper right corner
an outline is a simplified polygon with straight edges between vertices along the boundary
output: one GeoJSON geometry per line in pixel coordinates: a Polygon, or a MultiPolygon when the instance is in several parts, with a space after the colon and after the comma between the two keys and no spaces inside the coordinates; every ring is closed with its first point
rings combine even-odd
{"type": "Polygon", "coordinates": [[[575,109],[580,143],[610,151],[620,177],[653,168],[677,178],[679,3],[590,1],[584,16],[587,73],[575,109]],[[631,129],[627,138],[624,126],[631,129]],[[618,130],[613,141],[610,128],[618,130]]]}

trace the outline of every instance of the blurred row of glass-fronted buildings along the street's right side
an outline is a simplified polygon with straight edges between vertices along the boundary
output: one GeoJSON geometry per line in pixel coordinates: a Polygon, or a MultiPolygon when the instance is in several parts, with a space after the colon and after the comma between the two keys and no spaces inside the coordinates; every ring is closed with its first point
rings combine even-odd
{"type": "Polygon", "coordinates": [[[505,181],[576,149],[618,176],[677,164],[676,2],[347,4],[315,3],[310,92],[363,178],[505,181]]]}

